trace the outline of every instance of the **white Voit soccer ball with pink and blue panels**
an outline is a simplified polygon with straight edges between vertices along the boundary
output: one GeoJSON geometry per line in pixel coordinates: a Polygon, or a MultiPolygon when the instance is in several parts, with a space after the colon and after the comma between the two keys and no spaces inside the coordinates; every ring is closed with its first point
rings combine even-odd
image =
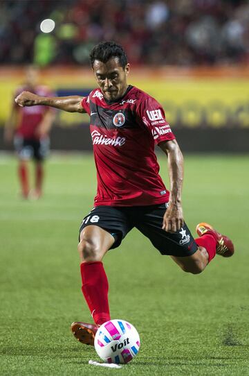
{"type": "Polygon", "coordinates": [[[95,335],[94,347],[106,363],[128,363],[140,348],[139,334],[124,320],[110,320],[102,324],[95,335]]]}

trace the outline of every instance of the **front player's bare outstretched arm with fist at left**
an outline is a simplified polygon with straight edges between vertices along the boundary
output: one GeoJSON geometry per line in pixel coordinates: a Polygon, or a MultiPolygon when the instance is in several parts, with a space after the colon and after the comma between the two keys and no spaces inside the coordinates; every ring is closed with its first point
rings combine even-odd
{"type": "Polygon", "coordinates": [[[39,96],[30,92],[22,92],[15,99],[21,107],[31,105],[48,105],[67,112],[86,112],[82,107],[82,96],[39,96]]]}

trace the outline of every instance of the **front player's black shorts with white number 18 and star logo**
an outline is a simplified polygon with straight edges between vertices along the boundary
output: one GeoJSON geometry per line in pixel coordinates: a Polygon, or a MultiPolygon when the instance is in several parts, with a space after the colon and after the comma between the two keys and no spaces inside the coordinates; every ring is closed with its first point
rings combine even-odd
{"type": "Polygon", "coordinates": [[[97,206],[84,217],[80,232],[87,225],[98,225],[113,235],[117,248],[132,228],[137,228],[162,255],[185,257],[198,249],[190,230],[184,223],[181,230],[169,233],[162,229],[167,203],[136,207],[97,206]]]}

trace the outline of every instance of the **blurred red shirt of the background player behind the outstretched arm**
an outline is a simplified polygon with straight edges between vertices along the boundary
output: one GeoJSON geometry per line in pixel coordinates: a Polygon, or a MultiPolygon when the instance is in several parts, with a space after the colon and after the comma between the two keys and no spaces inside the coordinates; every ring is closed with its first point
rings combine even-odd
{"type": "MultiPolygon", "coordinates": [[[[50,90],[45,86],[36,86],[35,89],[30,89],[30,87],[27,86],[19,87],[15,96],[19,95],[23,91],[32,92],[33,94],[40,96],[53,96],[50,90]]],[[[15,107],[17,108],[19,114],[16,134],[24,137],[25,139],[39,139],[35,131],[49,108],[44,105],[20,107],[17,104],[15,104],[15,107]]]]}

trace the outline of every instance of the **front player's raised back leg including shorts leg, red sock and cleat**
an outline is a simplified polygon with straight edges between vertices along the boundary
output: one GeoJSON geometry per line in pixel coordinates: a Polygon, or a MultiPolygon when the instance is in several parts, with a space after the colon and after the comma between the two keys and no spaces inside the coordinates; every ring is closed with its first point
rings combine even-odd
{"type": "Polygon", "coordinates": [[[140,230],[162,255],[172,259],[187,273],[199,274],[216,253],[228,257],[234,252],[232,241],[219,234],[207,223],[200,223],[194,239],[187,225],[173,233],[162,229],[163,215],[167,205],[153,205],[137,209],[136,228],[140,230]]]}

